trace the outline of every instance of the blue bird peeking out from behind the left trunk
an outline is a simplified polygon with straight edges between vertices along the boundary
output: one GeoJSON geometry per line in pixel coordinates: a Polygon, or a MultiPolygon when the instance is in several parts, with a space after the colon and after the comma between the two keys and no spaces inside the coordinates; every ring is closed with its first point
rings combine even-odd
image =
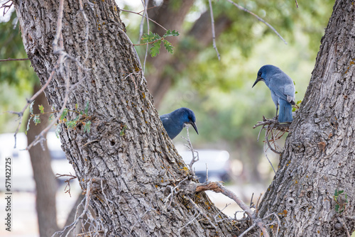
{"type": "Polygon", "coordinates": [[[182,131],[182,128],[184,128],[187,124],[191,124],[192,127],[195,128],[196,133],[199,133],[195,123],[196,117],[191,109],[177,109],[170,114],[163,114],[160,116],[160,120],[163,122],[163,126],[171,139],[178,136],[178,134],[182,131]]]}

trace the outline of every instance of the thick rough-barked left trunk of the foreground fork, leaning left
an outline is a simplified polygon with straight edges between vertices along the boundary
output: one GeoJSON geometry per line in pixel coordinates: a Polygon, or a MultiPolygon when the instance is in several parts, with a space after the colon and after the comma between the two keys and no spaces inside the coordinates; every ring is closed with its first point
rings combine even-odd
{"type": "MultiPolygon", "coordinates": [[[[58,28],[58,1],[24,0],[14,4],[26,52],[40,82],[45,84],[58,62],[52,47],[58,28]]],[[[146,82],[141,79],[138,58],[124,33],[119,9],[110,0],[95,1],[92,6],[84,2],[86,22],[79,4],[80,1],[64,1],[62,43],[65,52],[89,70],[84,71],[66,57],[45,94],[49,103],[60,109],[65,100],[65,81],[69,80],[71,90],[66,107],[73,111],[77,104],[84,111],[89,103],[84,122],[92,121],[91,131],[84,132],[83,123],[78,123],[75,129],[62,124],[60,138],[82,189],[94,182],[90,204],[98,217],[98,226],[91,234],[233,236],[238,233],[231,221],[213,226],[207,221],[207,216],[211,220],[214,216],[225,216],[219,214],[204,194],[181,192],[168,197],[170,187],[186,177],[187,167],[165,134],[146,82]]],[[[76,116],[70,112],[67,120],[76,116]]]]}

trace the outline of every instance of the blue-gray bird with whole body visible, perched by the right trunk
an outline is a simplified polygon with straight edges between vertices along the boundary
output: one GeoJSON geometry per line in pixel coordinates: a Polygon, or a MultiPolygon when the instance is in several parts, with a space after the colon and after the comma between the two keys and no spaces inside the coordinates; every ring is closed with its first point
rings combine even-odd
{"type": "Polygon", "coordinates": [[[276,118],[279,123],[292,122],[292,105],[295,104],[295,84],[293,80],[273,65],[264,65],[258,71],[258,77],[253,84],[263,81],[271,91],[271,98],[276,106],[276,118]],[[280,111],[278,113],[278,106],[280,111]]]}

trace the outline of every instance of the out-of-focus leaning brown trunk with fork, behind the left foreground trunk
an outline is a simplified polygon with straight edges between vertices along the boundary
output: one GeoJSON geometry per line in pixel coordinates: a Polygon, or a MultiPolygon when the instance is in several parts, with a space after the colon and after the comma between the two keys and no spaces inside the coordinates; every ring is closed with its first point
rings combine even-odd
{"type": "MultiPolygon", "coordinates": [[[[179,31],[179,37],[169,38],[173,45],[177,45],[178,53],[173,55],[166,50],[160,50],[159,55],[148,57],[148,89],[153,95],[154,104],[160,106],[165,94],[173,84],[174,75],[182,72],[195,60],[200,53],[208,45],[212,45],[212,26],[209,9],[201,14],[200,18],[195,21],[194,25],[187,33],[182,31],[182,23],[185,21],[190,8],[194,1],[170,1],[165,0],[158,8],[148,10],[149,18],[160,23],[167,29],[179,31]],[[184,39],[185,38],[185,39],[184,39]],[[183,40],[184,39],[184,40],[183,40]],[[181,43],[181,41],[184,41],[181,43]],[[189,42],[189,43],[186,43],[189,42]]],[[[149,7],[153,7],[153,1],[149,1],[149,7]]],[[[231,19],[228,16],[217,16],[214,19],[214,27],[216,37],[226,31],[231,26],[231,19]]],[[[165,32],[160,26],[152,25],[151,31],[163,35],[165,32]]],[[[217,57],[217,56],[216,56],[217,57]]]]}

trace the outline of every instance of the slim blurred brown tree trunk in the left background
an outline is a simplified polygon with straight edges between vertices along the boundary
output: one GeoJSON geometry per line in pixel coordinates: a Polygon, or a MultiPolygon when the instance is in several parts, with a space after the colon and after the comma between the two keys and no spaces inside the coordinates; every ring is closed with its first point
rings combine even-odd
{"type": "MultiPolygon", "coordinates": [[[[40,89],[39,84],[33,87],[33,91],[38,92],[40,89]]],[[[33,114],[40,114],[38,105],[42,104],[45,111],[50,111],[45,94],[40,94],[35,103],[33,104],[33,114]]],[[[37,136],[46,126],[48,126],[49,115],[45,114],[41,117],[41,122],[35,126],[33,121],[30,124],[30,130],[27,133],[28,144],[32,143],[37,136]]],[[[52,236],[55,231],[58,231],[57,225],[57,210],[55,209],[55,194],[58,189],[58,182],[55,180],[52,167],[50,166],[50,151],[48,150],[47,143],[43,143],[43,148],[36,145],[29,150],[31,157],[31,164],[33,168],[33,178],[35,180],[35,209],[38,216],[38,227],[40,236],[52,236]],[[45,150],[43,150],[43,148],[45,150]]]]}

